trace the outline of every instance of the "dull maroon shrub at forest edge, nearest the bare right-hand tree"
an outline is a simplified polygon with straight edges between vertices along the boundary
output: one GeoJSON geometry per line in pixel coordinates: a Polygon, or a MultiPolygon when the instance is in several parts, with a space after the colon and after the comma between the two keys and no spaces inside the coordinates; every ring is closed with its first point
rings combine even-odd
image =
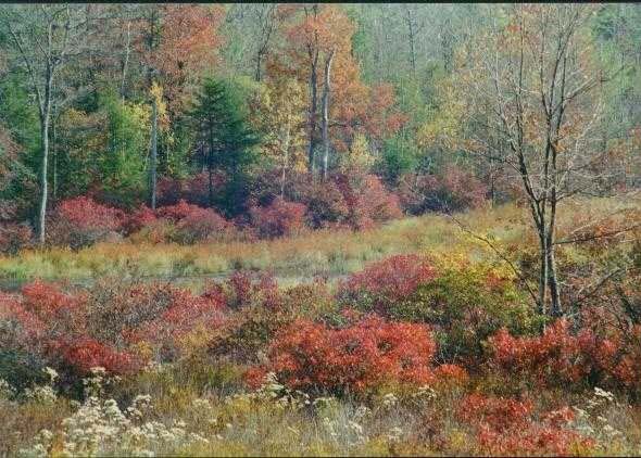
{"type": "Polygon", "coordinates": [[[486,201],[487,188],[474,175],[450,166],[442,175],[407,175],[399,186],[405,211],[425,212],[475,208],[486,201]]]}

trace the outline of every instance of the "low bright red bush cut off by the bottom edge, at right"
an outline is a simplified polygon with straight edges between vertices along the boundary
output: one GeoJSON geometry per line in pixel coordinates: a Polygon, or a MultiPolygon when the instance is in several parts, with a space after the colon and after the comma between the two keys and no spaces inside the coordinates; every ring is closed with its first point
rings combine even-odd
{"type": "Polygon", "coordinates": [[[565,407],[548,412],[537,422],[532,403],[473,393],[461,400],[456,416],[468,423],[482,455],[565,456],[573,447],[594,444],[568,428],[574,412],[565,407]]]}

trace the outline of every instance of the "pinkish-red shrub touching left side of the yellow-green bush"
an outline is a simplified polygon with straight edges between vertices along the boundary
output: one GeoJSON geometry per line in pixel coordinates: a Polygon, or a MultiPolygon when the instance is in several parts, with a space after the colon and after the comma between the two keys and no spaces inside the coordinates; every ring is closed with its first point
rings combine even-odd
{"type": "Polygon", "coordinates": [[[436,270],[425,257],[395,255],[352,273],[340,285],[339,296],[385,315],[390,304],[407,298],[419,284],[435,278],[436,270]]]}

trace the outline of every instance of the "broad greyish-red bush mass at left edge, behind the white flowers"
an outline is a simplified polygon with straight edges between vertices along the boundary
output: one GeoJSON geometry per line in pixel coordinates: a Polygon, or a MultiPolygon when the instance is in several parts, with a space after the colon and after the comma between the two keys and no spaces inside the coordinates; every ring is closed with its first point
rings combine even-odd
{"type": "Polygon", "coordinates": [[[70,293],[35,281],[21,294],[0,294],[0,345],[70,379],[96,366],[131,372],[150,358],[180,356],[181,339],[219,326],[226,305],[221,289],[193,295],[166,284],[102,281],[70,293]]]}

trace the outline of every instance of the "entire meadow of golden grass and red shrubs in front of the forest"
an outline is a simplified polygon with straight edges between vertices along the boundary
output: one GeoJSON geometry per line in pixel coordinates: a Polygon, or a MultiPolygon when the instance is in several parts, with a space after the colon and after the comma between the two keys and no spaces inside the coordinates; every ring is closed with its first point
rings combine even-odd
{"type": "MultiPolygon", "coordinates": [[[[562,233],[588,204],[609,224],[639,206],[576,202],[562,233]]],[[[531,232],[510,204],[3,257],[25,284],[2,295],[0,455],[638,455],[641,329],[613,325],[612,290],[539,315],[498,256],[525,271],[531,232]]]]}

